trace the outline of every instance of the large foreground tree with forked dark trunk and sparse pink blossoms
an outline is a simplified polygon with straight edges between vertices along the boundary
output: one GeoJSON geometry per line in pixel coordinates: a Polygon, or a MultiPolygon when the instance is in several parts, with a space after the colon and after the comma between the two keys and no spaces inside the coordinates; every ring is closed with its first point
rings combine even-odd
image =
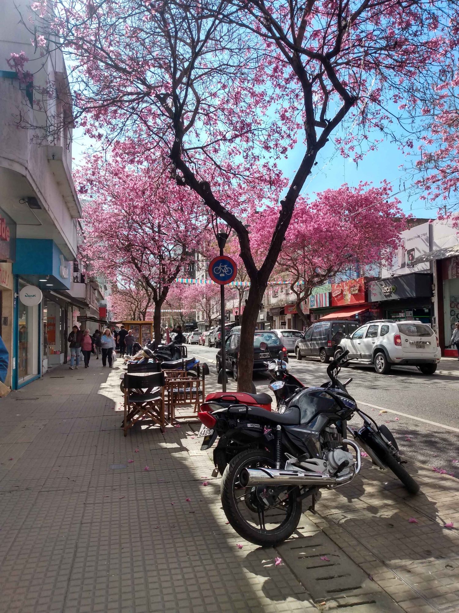
{"type": "Polygon", "coordinates": [[[388,134],[412,146],[405,126],[416,128],[416,110],[455,62],[458,1],[40,0],[34,9],[32,25],[23,17],[31,36],[51,32],[72,55],[73,114],[88,134],[122,135],[133,156],[162,150],[177,184],[236,232],[251,281],[238,381],[249,390],[259,303],[319,151],[358,161],[388,134]],[[275,164],[295,145],[285,186],[275,164]],[[226,190],[267,183],[277,220],[257,263],[250,203],[226,190]]]}

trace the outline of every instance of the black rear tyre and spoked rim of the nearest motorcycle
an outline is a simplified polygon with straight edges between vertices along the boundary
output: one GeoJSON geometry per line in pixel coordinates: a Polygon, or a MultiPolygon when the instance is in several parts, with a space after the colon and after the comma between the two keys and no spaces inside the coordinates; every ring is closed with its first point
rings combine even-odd
{"type": "MultiPolygon", "coordinates": [[[[220,497],[222,500],[223,511],[226,519],[231,526],[236,530],[237,534],[242,536],[246,541],[255,543],[261,547],[275,547],[283,543],[296,530],[302,512],[302,501],[299,500],[299,488],[286,488],[288,492],[285,504],[278,503],[275,507],[266,507],[260,504],[259,508],[263,509],[258,514],[258,523],[256,524],[255,512],[253,512],[254,504],[258,504],[257,490],[261,488],[241,487],[239,484],[239,475],[244,468],[255,468],[256,466],[275,466],[274,459],[271,454],[261,450],[248,450],[236,455],[231,462],[226,466],[222,477],[220,487],[220,497]],[[239,487],[238,487],[239,485],[239,487]],[[254,501],[247,504],[247,495],[252,495],[254,501]],[[278,512],[266,517],[265,511],[285,512],[285,519],[278,527],[267,529],[266,524],[271,525],[270,518],[278,516],[278,512]],[[244,511],[244,514],[242,512],[244,511]],[[248,521],[248,512],[252,512],[252,519],[248,521]]],[[[249,516],[250,517],[250,516],[249,516]]]]}

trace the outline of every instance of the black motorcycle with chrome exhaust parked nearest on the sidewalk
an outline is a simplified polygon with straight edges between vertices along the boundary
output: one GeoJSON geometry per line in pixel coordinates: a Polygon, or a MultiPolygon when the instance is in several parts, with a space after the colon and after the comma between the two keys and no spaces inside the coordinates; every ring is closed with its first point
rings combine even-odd
{"type": "MultiPolygon", "coordinates": [[[[226,518],[247,541],[271,547],[289,538],[303,500],[310,498],[313,510],[321,488],[342,487],[359,474],[359,446],[379,468],[392,470],[410,493],[419,490],[402,466],[389,428],[378,427],[360,411],[346,390],[352,379],[338,380],[346,355],[330,362],[327,383],[296,390],[282,413],[247,404],[201,405],[201,449],[209,449],[220,436],[236,452],[223,471],[220,495],[226,518]],[[348,425],[354,415],[363,421],[359,428],[348,425]]],[[[272,371],[282,381],[285,362],[274,362],[272,371]]]]}

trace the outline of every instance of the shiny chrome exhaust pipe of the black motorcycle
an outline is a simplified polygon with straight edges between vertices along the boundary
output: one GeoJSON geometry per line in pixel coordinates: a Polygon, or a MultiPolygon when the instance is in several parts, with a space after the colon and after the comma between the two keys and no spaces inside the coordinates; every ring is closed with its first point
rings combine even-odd
{"type": "Polygon", "coordinates": [[[344,444],[348,444],[356,451],[356,467],[354,472],[343,476],[331,476],[329,474],[314,473],[299,468],[298,470],[278,470],[276,468],[244,468],[239,475],[239,482],[242,487],[256,487],[259,485],[344,485],[352,481],[356,474],[359,474],[362,462],[360,459],[360,449],[353,442],[343,439],[344,444]]]}

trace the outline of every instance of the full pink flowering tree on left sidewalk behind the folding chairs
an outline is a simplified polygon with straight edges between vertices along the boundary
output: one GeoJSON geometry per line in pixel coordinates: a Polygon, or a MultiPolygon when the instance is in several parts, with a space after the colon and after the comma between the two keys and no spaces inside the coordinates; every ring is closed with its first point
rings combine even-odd
{"type": "Polygon", "coordinates": [[[138,288],[141,314],[154,305],[155,338],[161,338],[161,308],[171,283],[206,232],[200,202],[173,183],[152,155],[144,156],[142,166],[130,164],[122,150],[110,161],[93,155],[76,181],[86,197],[86,257],[119,286],[138,288]]]}

